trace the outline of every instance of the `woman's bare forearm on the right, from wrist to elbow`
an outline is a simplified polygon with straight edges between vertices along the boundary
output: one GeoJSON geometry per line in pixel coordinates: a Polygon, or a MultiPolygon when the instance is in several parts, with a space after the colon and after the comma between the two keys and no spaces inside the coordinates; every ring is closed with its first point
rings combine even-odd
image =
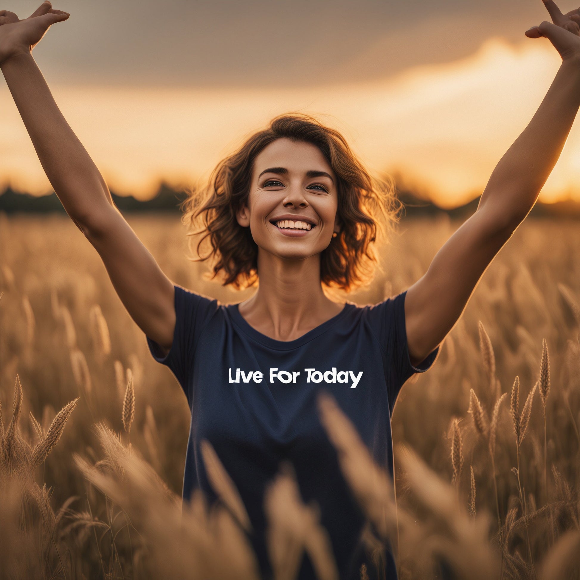
{"type": "Polygon", "coordinates": [[[479,206],[519,224],[556,165],[580,107],[580,62],[564,60],[534,117],[491,174],[479,206]]]}

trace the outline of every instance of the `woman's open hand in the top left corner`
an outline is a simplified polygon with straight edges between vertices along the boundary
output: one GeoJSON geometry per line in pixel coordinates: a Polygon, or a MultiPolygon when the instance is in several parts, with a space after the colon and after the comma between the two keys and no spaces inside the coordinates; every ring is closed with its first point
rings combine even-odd
{"type": "Polygon", "coordinates": [[[0,10],[0,64],[20,53],[30,53],[51,24],[68,16],[68,12],[53,9],[48,0],[24,20],[19,20],[14,12],[0,10]]]}

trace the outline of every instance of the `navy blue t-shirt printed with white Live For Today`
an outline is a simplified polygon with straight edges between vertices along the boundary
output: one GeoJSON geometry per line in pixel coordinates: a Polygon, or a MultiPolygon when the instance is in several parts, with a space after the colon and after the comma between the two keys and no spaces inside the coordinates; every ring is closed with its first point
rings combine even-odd
{"type": "MultiPolygon", "coordinates": [[[[264,488],[281,461],[295,469],[304,503],[320,507],[320,523],[331,538],[341,580],[359,580],[367,564],[360,533],[365,517],[340,471],[336,450],[320,423],[317,394],[331,393],[367,445],[374,461],[393,476],[391,415],[401,386],[431,367],[439,347],[413,367],[405,331],[405,295],[374,306],[347,302],[339,314],[296,340],[275,340],[251,327],[238,305],[222,305],[175,285],[173,344],[158,362],[182,386],[191,409],[183,499],[201,488],[218,498],[205,472],[200,441],[208,440],[234,481],[248,516],[248,536],[262,577],[271,578],[266,548],[264,488]],[[260,380],[261,379],[261,380],[260,380]]],[[[390,546],[385,549],[387,580],[397,578],[390,546]]],[[[306,553],[300,580],[316,578],[306,553]]]]}

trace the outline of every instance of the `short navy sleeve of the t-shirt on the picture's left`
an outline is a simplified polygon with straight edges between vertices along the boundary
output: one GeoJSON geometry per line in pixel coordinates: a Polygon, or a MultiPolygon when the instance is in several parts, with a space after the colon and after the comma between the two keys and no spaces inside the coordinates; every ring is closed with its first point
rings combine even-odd
{"type": "Polygon", "coordinates": [[[195,347],[205,327],[216,313],[218,300],[190,292],[174,284],[175,289],[175,330],[169,352],[163,356],[161,346],[146,336],[151,356],[161,364],[169,367],[177,382],[182,386],[187,401],[191,405],[191,371],[195,347]]]}

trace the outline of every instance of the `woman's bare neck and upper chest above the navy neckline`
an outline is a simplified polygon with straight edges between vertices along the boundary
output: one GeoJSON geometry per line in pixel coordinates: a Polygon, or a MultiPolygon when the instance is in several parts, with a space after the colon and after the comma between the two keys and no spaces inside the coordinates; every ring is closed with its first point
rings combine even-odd
{"type": "Polygon", "coordinates": [[[259,252],[259,287],[239,306],[257,331],[276,340],[295,340],[336,316],[343,304],[322,291],[320,254],[304,260],[283,260],[259,252]]]}

